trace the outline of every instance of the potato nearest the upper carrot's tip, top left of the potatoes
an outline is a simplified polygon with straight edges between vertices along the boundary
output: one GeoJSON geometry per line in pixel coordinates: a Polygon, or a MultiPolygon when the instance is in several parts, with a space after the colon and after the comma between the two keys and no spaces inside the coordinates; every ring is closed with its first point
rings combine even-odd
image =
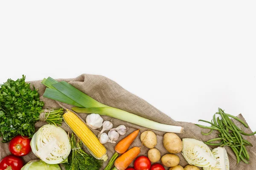
{"type": "Polygon", "coordinates": [[[157,136],[154,132],[147,130],[140,135],[140,141],[145,147],[151,149],[157,144],[157,136]]]}

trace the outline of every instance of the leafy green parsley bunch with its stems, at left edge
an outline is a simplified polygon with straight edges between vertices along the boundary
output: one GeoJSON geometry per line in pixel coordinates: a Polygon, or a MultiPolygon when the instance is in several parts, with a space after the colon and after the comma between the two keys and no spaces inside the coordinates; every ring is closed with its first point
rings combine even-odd
{"type": "MultiPolygon", "coordinates": [[[[25,78],[23,75],[16,81],[8,79],[0,86],[0,136],[3,136],[3,142],[9,142],[18,134],[31,138],[35,133],[35,122],[44,112],[44,102],[40,101],[38,91],[35,87],[31,90],[25,78]]],[[[63,109],[52,111],[58,113],[49,117],[57,119],[59,125],[63,109]]]]}

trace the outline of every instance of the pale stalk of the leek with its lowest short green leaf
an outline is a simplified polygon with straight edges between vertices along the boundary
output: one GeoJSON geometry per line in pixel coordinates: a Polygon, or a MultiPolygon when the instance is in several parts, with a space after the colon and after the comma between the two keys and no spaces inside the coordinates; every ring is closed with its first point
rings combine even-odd
{"type": "Polygon", "coordinates": [[[172,126],[154,122],[152,120],[137,116],[133,113],[123,111],[118,108],[112,107],[101,107],[101,108],[72,108],[73,111],[77,113],[97,113],[99,115],[110,116],[116,119],[123,120],[125,122],[130,122],[135,125],[140,125],[147,127],[153,130],[159,130],[163,132],[172,132],[172,133],[183,133],[184,128],[180,126],[172,126]]]}

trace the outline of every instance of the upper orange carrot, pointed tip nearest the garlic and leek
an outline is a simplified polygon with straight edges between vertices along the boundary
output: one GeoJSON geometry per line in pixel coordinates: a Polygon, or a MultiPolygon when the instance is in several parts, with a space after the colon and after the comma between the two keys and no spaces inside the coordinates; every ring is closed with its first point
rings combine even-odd
{"type": "Polygon", "coordinates": [[[118,142],[115,147],[116,152],[119,154],[125,153],[131,146],[132,142],[134,142],[134,139],[138,136],[139,132],[140,130],[135,130],[133,133],[118,142]]]}

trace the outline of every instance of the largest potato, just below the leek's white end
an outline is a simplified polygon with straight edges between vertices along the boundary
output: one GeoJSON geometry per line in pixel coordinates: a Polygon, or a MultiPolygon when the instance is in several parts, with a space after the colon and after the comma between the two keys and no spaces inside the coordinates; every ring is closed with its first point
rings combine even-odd
{"type": "Polygon", "coordinates": [[[166,133],[163,136],[163,146],[169,153],[180,153],[182,141],[175,133],[166,133]]]}

